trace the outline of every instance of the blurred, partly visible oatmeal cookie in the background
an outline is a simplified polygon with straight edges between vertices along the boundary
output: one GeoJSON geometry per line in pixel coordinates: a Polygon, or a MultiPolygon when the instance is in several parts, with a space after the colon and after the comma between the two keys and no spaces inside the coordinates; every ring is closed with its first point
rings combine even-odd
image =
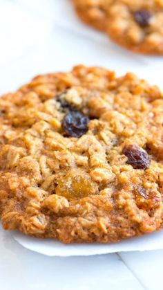
{"type": "Polygon", "coordinates": [[[73,0],[81,19],[138,53],[163,54],[162,0],[73,0]]]}

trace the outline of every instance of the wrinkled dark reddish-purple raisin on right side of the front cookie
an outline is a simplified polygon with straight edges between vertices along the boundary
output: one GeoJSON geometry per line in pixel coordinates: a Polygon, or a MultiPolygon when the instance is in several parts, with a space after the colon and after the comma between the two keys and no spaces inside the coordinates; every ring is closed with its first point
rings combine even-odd
{"type": "Polygon", "coordinates": [[[128,145],[124,147],[123,154],[128,157],[127,163],[132,165],[135,169],[143,169],[150,165],[148,153],[137,145],[128,145]]]}

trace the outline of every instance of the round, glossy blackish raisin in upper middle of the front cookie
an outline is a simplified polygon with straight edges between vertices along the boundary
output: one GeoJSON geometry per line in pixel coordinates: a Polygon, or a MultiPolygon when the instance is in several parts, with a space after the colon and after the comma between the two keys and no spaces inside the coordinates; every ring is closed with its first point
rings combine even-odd
{"type": "Polygon", "coordinates": [[[88,131],[89,118],[79,111],[70,111],[63,120],[62,127],[66,134],[79,138],[88,131]]]}

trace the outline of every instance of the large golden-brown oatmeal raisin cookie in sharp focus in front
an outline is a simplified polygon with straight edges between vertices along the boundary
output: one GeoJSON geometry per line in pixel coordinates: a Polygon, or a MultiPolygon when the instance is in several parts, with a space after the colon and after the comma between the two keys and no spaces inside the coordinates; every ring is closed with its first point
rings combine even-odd
{"type": "Polygon", "coordinates": [[[86,66],[2,96],[3,228],[64,243],[162,228],[162,108],[132,73],[86,66]]]}

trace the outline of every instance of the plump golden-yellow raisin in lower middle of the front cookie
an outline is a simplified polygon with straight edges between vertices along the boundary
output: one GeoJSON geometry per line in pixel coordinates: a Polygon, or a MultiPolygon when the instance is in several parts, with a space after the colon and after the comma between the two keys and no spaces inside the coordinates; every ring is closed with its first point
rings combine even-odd
{"type": "Polygon", "coordinates": [[[70,170],[63,179],[58,181],[56,194],[67,199],[81,199],[97,193],[97,184],[90,176],[80,170],[70,170]]]}

